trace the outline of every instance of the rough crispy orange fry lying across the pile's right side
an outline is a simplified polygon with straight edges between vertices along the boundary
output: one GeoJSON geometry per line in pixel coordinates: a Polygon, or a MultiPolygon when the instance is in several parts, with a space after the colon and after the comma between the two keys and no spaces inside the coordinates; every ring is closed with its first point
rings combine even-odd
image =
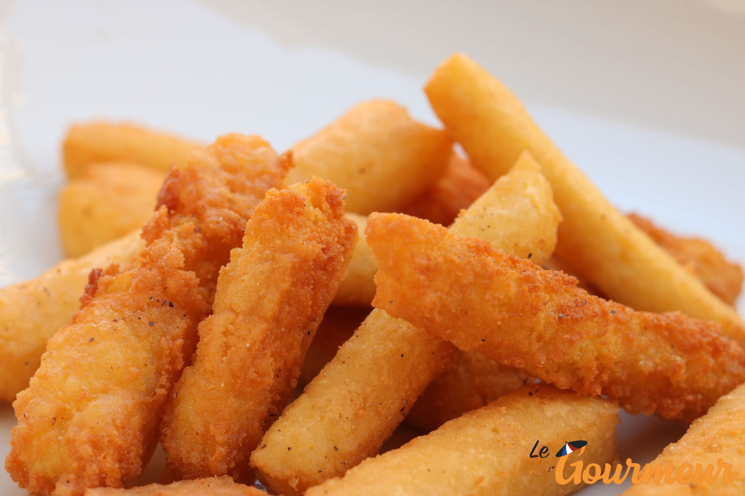
{"type": "Polygon", "coordinates": [[[562,389],[691,420],[745,380],[745,353],[717,323],[636,312],[416,217],[375,213],[367,241],[376,308],[562,389]]]}

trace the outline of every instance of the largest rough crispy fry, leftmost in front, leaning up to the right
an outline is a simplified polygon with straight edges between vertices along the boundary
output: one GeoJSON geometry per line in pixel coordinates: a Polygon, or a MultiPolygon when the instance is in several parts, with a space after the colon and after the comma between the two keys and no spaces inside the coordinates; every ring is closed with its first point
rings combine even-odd
{"type": "Polygon", "coordinates": [[[73,496],[140,474],[218,270],[287,165],[261,138],[227,135],[171,169],[145,248],[92,272],[72,323],[13,403],[19,425],[5,468],[21,487],[73,496]]]}

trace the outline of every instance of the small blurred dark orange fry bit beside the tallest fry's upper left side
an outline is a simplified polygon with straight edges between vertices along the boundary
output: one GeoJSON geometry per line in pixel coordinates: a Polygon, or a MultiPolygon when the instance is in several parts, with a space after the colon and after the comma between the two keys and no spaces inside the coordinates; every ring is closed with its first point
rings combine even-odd
{"type": "Polygon", "coordinates": [[[473,167],[456,152],[451,152],[445,175],[401,211],[448,226],[460,210],[468,208],[491,185],[492,181],[481,170],[473,167]]]}

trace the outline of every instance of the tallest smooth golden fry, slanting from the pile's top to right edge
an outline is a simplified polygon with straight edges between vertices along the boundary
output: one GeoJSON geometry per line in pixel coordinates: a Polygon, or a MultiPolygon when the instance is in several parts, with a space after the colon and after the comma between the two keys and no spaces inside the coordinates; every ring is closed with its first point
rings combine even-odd
{"type": "Polygon", "coordinates": [[[613,300],[650,312],[679,310],[717,321],[745,343],[745,323],[603,197],[536,126],[522,103],[468,57],[443,62],[425,91],[475,167],[495,179],[528,150],[564,216],[557,255],[613,300]]]}

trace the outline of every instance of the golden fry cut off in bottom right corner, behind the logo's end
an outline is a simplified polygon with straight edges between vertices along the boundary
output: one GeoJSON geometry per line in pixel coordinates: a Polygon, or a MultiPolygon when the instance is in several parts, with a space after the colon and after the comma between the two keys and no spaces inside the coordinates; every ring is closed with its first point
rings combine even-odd
{"type": "MultiPolygon", "coordinates": [[[[691,482],[659,484],[650,480],[649,484],[639,483],[624,492],[624,496],[653,495],[710,495],[740,496],[745,494],[745,385],[741,385],[722,396],[708,413],[697,419],[678,442],[673,442],[652,461],[656,466],[662,463],[673,465],[673,473],[688,463],[691,482]],[[729,463],[732,469],[727,473],[720,464],[729,463]],[[700,464],[700,465],[699,465],[700,464]],[[713,470],[706,476],[707,466],[713,470]],[[699,468],[700,467],[700,468],[699,468]],[[735,472],[737,475],[735,476],[735,472]],[[715,476],[715,480],[711,480],[715,476]],[[735,476],[734,480],[729,480],[735,476]],[[725,483],[725,477],[729,484],[725,483]],[[708,483],[706,482],[708,479],[708,483]]],[[[644,468],[642,468],[644,470],[644,468]]],[[[680,472],[678,472],[680,473],[680,472]]]]}

